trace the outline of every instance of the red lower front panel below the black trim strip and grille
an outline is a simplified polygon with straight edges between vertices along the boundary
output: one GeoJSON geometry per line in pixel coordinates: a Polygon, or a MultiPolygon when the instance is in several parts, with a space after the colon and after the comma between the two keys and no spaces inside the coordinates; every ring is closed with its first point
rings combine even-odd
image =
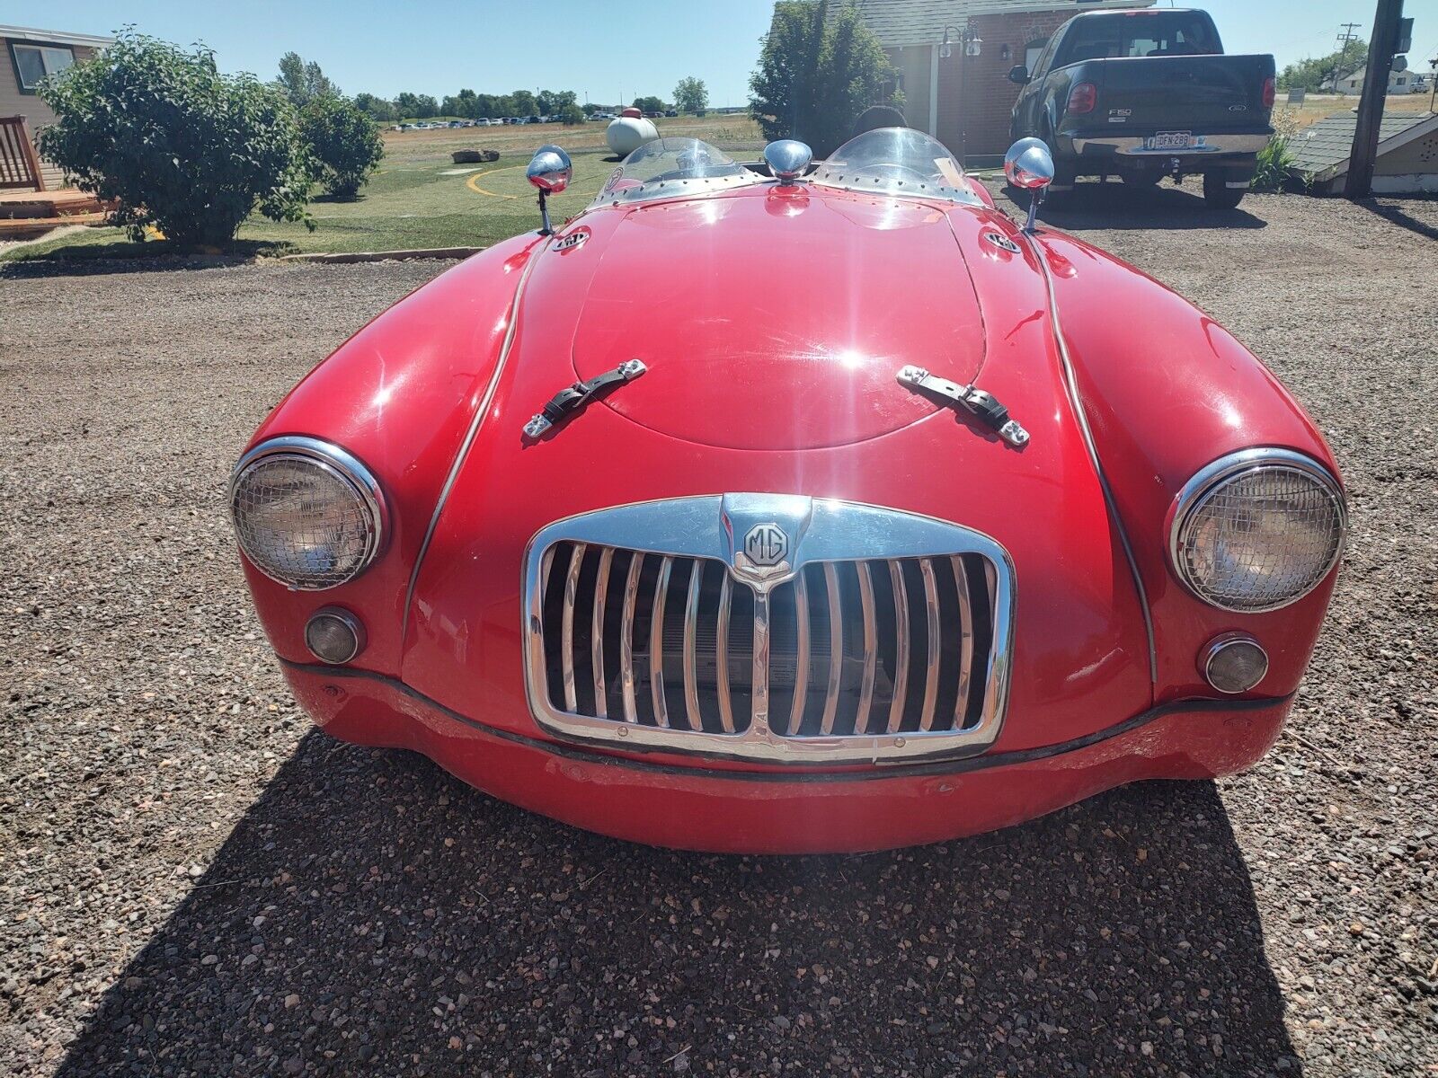
{"type": "Polygon", "coordinates": [[[866,770],[615,756],[460,716],[400,681],[285,664],[331,734],[413,749],[521,808],[614,838],[745,854],[860,852],[1022,824],[1139,779],[1206,779],[1267,752],[1291,697],[1172,704],[1066,745],[866,770]]]}

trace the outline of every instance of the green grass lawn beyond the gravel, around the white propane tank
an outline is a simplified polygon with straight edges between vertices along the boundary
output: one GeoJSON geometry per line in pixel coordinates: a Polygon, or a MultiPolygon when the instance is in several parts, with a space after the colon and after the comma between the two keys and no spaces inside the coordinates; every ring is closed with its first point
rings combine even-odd
{"type": "MultiPolygon", "coordinates": [[[[696,135],[720,145],[758,152],[758,129],[742,116],[696,121],[669,119],[666,134],[696,135]]],[[[295,254],[408,250],[417,247],[487,247],[539,227],[535,191],[525,165],[544,142],[571,149],[574,181],[551,198],[551,216],[564,220],[598,194],[614,170],[604,148],[604,125],[582,128],[525,125],[387,134],[385,160],[360,197],[311,203],[315,230],[303,224],[252,217],[240,227],[239,254],[295,254]],[[456,165],[450,152],[492,147],[500,158],[483,165],[456,165]],[[479,188],[479,190],[476,190],[479,188]]],[[[157,240],[129,241],[119,229],[86,229],[0,252],[3,260],[86,259],[164,254],[157,240]]]]}

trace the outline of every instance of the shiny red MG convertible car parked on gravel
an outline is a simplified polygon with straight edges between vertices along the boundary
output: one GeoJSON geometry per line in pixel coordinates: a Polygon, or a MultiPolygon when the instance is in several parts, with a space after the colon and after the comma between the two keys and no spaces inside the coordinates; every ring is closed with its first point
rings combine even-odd
{"type": "MultiPolygon", "coordinates": [[[[1041,144],[1009,181],[1037,198],[1041,144]]],[[[548,194],[569,161],[529,167],[548,194]]],[[[1273,743],[1327,446],[1202,310],[916,131],[631,154],[355,333],[230,507],[329,733],[626,839],[863,851],[1273,743]]]]}

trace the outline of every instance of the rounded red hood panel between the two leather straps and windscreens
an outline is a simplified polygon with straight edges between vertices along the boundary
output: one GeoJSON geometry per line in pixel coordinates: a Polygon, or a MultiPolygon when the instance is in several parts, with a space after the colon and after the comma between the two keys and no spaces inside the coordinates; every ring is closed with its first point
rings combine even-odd
{"type": "Polygon", "coordinates": [[[651,430],[725,448],[847,446],[935,411],[899,368],[968,382],[984,361],[974,282],[929,206],[801,188],[615,217],[577,252],[595,273],[574,368],[643,359],[646,377],[605,404],[651,430]]]}

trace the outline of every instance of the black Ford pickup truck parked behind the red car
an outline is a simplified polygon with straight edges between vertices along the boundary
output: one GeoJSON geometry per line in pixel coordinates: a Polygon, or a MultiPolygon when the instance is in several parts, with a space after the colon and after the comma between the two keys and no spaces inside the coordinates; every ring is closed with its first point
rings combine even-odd
{"type": "Polygon", "coordinates": [[[1078,175],[1150,185],[1202,172],[1214,208],[1238,206],[1273,135],[1273,56],[1224,56],[1208,11],[1086,11],[1008,76],[1024,89],[1011,134],[1054,155],[1050,197],[1078,175]]]}

